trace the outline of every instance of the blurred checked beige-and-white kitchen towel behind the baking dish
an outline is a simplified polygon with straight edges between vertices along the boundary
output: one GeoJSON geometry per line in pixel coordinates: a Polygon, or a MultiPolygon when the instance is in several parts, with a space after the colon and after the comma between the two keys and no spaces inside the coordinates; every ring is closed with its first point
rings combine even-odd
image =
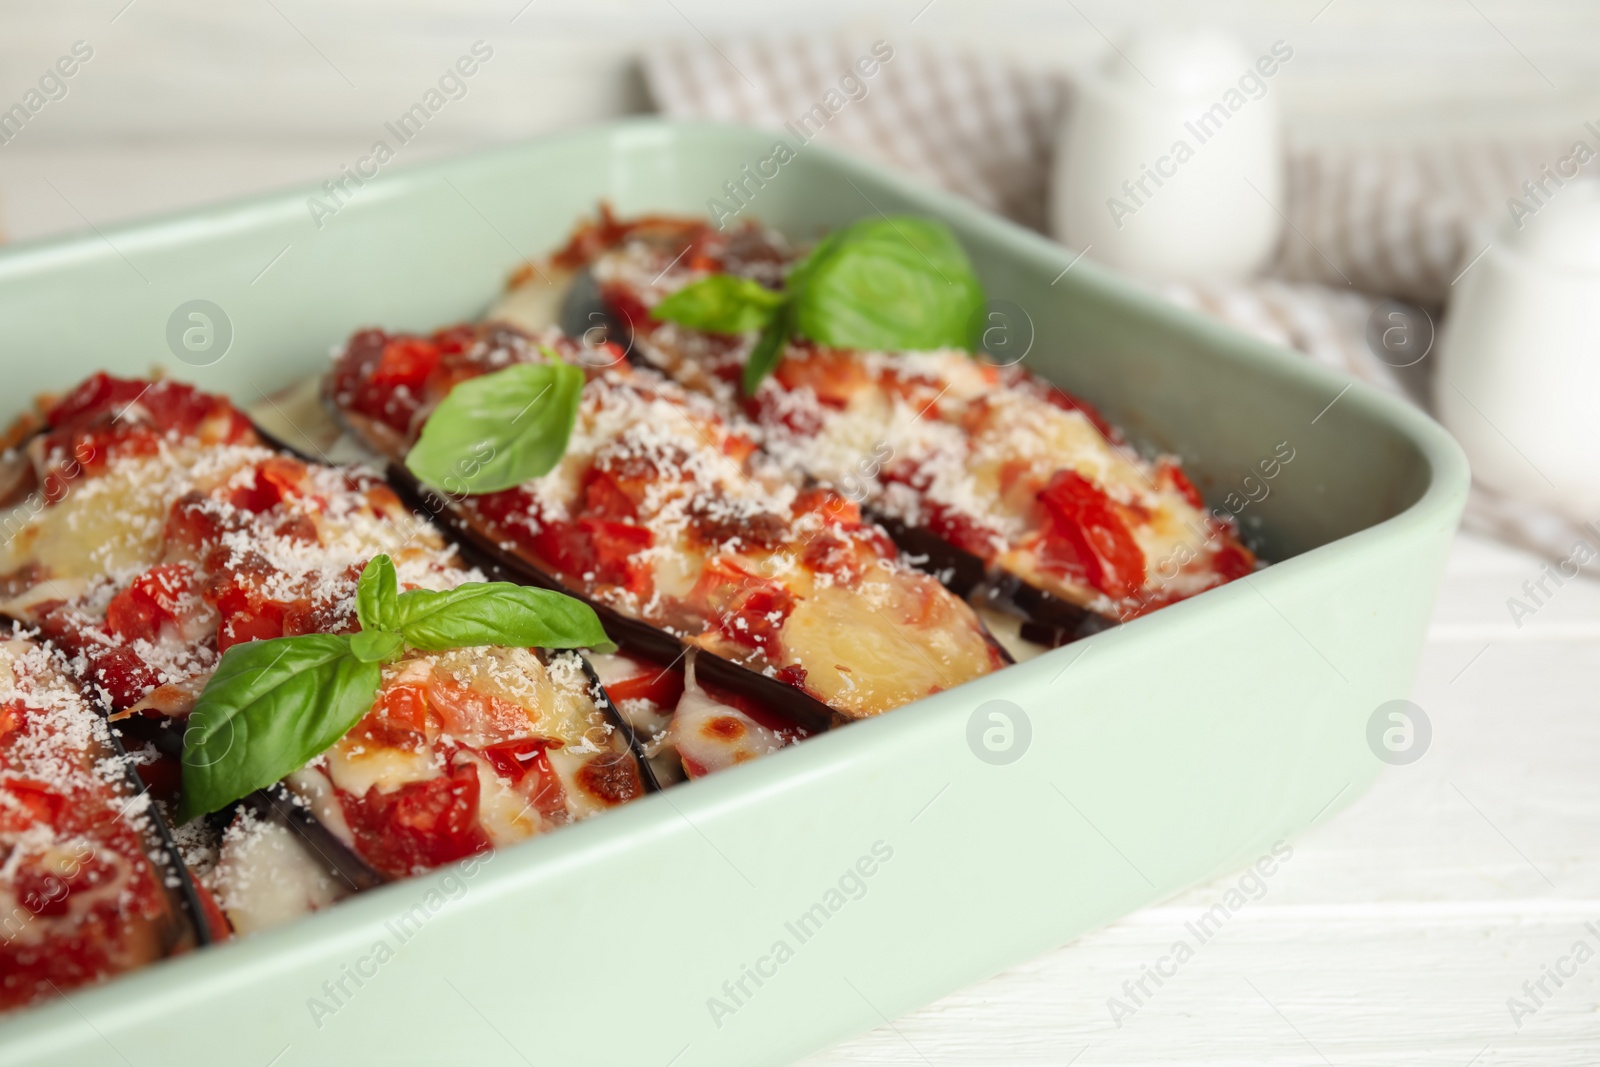
{"type": "MultiPolygon", "coordinates": [[[[885,40],[702,38],[643,59],[656,106],[819,139],[1045,229],[1056,130],[1070,75],[885,40]]],[[[1430,309],[1483,251],[1523,182],[1549,181],[1571,149],[1560,138],[1330,146],[1290,130],[1283,242],[1267,277],[1162,283],[1168,299],[1298,349],[1379,389],[1427,403],[1430,360],[1397,370],[1366,344],[1384,299],[1430,309]]],[[[1466,525],[1566,558],[1576,523],[1474,488],[1466,525]]]]}

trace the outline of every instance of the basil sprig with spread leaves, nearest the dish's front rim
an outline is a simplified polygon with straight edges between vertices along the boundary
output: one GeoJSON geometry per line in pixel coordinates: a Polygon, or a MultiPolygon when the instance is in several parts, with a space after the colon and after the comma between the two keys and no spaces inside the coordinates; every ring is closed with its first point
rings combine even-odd
{"type": "Polygon", "coordinates": [[[406,648],[616,648],[579,600],[510,582],[400,592],[387,555],[362,571],[355,617],[358,633],[246,641],[222,654],[184,731],[181,821],[248,797],[326,752],[373,709],[382,665],[406,648]]]}

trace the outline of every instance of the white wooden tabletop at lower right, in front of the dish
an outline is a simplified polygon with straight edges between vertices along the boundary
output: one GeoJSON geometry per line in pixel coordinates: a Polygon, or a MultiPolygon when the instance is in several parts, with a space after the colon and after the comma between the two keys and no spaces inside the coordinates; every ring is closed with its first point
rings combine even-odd
{"type": "Polygon", "coordinates": [[[1224,878],[806,1061],[845,1064],[1600,1062],[1600,582],[1518,630],[1542,560],[1462,534],[1413,699],[1427,753],[1387,768],[1131,1017],[1126,995],[1224,878]],[[1542,1005],[1522,989],[1584,941],[1542,1005]],[[1530,1013],[1514,1017],[1517,997],[1530,1013]],[[1520,1022],[1520,1025],[1518,1025],[1520,1022]]]}

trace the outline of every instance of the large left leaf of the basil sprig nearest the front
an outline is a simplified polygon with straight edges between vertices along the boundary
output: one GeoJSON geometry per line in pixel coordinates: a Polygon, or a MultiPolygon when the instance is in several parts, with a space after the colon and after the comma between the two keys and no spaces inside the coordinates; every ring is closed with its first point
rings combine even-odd
{"type": "Polygon", "coordinates": [[[382,669],[334,633],[234,645],[189,713],[181,822],[293,774],[373,707],[382,669]]]}

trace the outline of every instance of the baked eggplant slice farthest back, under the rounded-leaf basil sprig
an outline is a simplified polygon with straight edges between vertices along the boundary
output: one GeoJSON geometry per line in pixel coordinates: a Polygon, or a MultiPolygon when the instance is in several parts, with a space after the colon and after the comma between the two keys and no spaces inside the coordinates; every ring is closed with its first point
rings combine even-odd
{"type": "MultiPolygon", "coordinates": [[[[742,411],[781,464],[858,501],[952,590],[1021,617],[1032,640],[1072,640],[1251,573],[1234,525],[1205,509],[1176,458],[1139,456],[1090,403],[1019,365],[958,347],[822,344],[802,320],[758,357],[771,370],[752,390],[765,334],[686,325],[715,315],[685,314],[682,299],[662,307],[696,285],[717,293],[707,280],[782,299],[805,264],[755,224],[606,211],[552,258],[571,278],[563,322],[603,314],[629,358],[742,411]]],[[[523,296],[538,285],[522,278],[490,318],[541,326],[547,301],[523,296]]]]}

